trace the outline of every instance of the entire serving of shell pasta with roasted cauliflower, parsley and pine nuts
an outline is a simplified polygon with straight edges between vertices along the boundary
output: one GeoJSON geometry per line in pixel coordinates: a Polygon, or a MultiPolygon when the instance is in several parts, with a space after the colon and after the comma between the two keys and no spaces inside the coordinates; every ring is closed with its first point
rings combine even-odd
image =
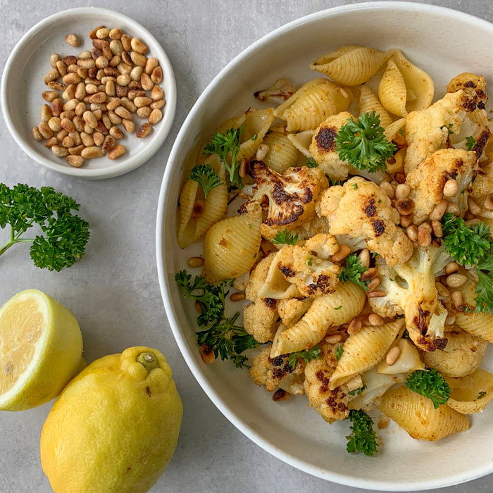
{"type": "Polygon", "coordinates": [[[248,361],[273,400],[327,423],[447,439],[493,400],[486,80],[451,74],[437,99],[399,49],[330,49],[307,61],[318,77],[258,87],[184,176],[201,355],[248,361]]]}

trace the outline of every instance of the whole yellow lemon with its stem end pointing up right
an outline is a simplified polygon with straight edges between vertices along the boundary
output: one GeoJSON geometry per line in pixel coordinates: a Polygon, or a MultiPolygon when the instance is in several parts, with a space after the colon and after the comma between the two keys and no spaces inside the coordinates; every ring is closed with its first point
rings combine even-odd
{"type": "Polygon", "coordinates": [[[173,456],[182,401],[166,358],[131,347],[90,363],[56,399],[41,463],[56,493],[148,491],[173,456]]]}

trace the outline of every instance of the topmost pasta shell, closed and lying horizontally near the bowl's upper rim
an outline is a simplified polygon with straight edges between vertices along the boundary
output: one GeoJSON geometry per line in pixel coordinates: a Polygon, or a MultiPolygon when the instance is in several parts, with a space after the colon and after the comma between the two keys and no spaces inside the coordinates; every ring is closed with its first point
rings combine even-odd
{"type": "Polygon", "coordinates": [[[391,55],[392,51],[343,46],[337,51],[320,56],[310,64],[310,68],[328,75],[339,84],[356,86],[368,82],[391,55]]]}

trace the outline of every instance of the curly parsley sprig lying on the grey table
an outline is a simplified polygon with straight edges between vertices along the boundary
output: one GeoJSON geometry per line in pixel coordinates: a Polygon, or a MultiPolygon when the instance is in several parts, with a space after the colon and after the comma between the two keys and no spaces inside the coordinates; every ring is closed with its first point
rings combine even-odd
{"type": "Polygon", "coordinates": [[[37,189],[19,183],[12,188],[0,183],[0,227],[11,227],[10,239],[0,247],[0,255],[18,243],[30,243],[30,256],[39,268],[56,270],[70,267],[85,253],[89,223],[72,213],[80,204],[52,187],[37,189]],[[23,237],[33,226],[42,234],[23,237]]]}

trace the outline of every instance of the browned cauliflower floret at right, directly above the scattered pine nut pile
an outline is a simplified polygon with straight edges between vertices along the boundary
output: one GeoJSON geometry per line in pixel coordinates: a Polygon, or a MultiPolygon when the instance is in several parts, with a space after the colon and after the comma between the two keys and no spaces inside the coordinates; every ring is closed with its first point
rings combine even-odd
{"type": "Polygon", "coordinates": [[[408,173],[406,184],[414,201],[413,223],[421,224],[443,199],[457,204],[461,212],[467,208],[468,187],[478,166],[476,155],[463,149],[440,149],[408,173]],[[455,180],[457,190],[444,196],[444,185],[455,180]]]}

